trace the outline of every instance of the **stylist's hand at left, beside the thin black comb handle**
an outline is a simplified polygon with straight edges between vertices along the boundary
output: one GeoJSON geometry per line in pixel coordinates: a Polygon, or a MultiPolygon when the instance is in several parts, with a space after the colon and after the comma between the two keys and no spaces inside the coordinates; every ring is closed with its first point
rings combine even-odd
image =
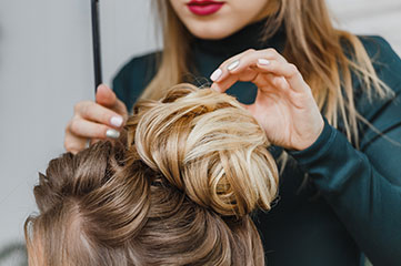
{"type": "Polygon", "coordinates": [[[88,140],[117,139],[128,117],[127,108],[104,84],[98,86],[96,102],[76,104],[73,117],[66,127],[64,147],[78,153],[86,149],[88,140]]]}

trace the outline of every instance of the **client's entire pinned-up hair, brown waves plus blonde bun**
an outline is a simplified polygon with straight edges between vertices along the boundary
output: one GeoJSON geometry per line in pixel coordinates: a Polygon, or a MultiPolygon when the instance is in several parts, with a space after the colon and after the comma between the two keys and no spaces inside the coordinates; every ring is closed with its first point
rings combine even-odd
{"type": "Polygon", "coordinates": [[[40,174],[30,265],[263,265],[250,213],[277,194],[268,146],[227,94],[181,84],[141,101],[120,140],[40,174]]]}

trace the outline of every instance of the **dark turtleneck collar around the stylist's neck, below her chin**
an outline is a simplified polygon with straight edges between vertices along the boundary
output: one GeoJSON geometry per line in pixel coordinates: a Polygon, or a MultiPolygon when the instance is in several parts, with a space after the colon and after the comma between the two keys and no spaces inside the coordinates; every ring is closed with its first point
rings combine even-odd
{"type": "Polygon", "coordinates": [[[194,38],[194,47],[202,53],[222,55],[224,58],[233,57],[248,49],[274,48],[282,50],[285,42],[284,27],[281,27],[273,37],[267,41],[261,41],[265,27],[265,19],[249,24],[230,37],[220,40],[204,40],[194,38]]]}

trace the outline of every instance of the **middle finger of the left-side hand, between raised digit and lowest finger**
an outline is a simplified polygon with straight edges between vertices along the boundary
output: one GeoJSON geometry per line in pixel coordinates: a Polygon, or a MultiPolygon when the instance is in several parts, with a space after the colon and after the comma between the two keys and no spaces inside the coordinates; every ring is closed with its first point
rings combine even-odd
{"type": "Polygon", "coordinates": [[[124,123],[123,116],[91,101],[79,102],[74,106],[74,113],[84,120],[109,125],[114,129],[120,129],[124,123]]]}

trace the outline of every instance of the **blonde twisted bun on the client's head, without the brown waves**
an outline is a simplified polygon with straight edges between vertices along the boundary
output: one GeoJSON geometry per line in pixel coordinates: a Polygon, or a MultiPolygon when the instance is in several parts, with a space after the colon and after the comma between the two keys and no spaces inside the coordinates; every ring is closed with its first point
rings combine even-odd
{"type": "Polygon", "coordinates": [[[193,202],[228,216],[270,208],[278,174],[269,142],[234,98],[182,84],[134,112],[130,149],[193,202]]]}

